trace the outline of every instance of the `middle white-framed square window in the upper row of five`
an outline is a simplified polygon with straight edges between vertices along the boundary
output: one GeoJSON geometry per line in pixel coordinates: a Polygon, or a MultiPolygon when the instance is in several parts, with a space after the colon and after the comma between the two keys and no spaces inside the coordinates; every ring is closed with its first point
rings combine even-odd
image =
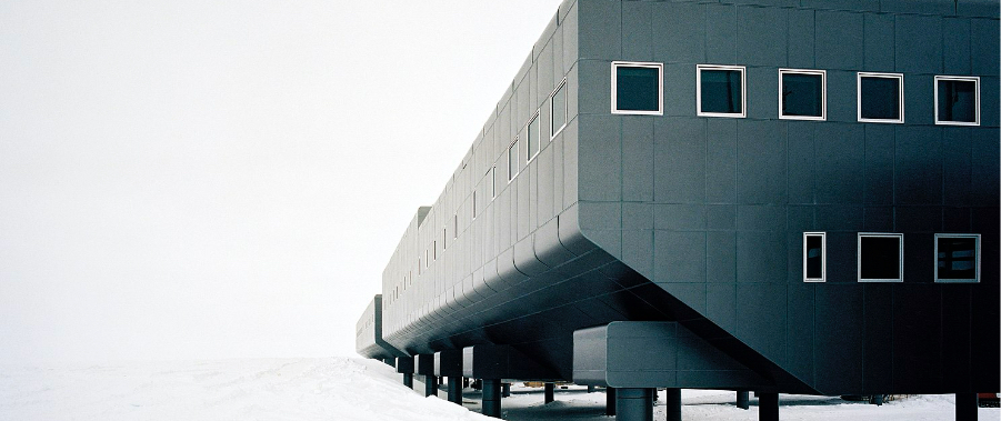
{"type": "Polygon", "coordinates": [[[779,69],[779,118],[827,119],[827,72],[779,69]]]}

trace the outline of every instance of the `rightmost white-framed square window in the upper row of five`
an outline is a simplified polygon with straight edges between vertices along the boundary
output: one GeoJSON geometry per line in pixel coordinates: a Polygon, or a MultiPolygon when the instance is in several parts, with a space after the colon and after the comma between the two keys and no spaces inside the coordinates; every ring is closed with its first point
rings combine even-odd
{"type": "Polygon", "coordinates": [[[935,77],[935,124],[980,126],[980,78],[935,77]]]}

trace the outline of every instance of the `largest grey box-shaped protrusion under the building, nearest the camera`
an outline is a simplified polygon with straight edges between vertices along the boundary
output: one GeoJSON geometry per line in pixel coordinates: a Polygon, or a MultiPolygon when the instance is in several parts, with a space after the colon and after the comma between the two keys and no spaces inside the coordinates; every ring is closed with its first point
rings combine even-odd
{"type": "Polygon", "coordinates": [[[710,389],[771,384],[678,322],[612,322],[573,332],[573,382],[710,389]]]}

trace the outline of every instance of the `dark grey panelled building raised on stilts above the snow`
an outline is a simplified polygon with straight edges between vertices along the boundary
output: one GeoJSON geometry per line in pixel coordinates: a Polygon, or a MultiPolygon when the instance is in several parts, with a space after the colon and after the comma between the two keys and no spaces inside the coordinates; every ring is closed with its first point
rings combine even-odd
{"type": "Polygon", "coordinates": [[[359,352],[625,397],[999,391],[998,92],[998,1],[564,1],[359,352]]]}

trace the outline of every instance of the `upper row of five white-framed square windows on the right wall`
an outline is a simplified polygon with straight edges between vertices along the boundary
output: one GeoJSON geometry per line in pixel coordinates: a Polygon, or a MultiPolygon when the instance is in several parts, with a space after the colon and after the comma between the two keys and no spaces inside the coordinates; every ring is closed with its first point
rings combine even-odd
{"type": "MultiPolygon", "coordinates": [[[[698,64],[695,113],[747,117],[747,68],[698,64]]],[[[903,73],[858,72],[858,118],[903,122],[903,73]]],[[[663,114],[663,64],[612,62],[612,113],[663,114]]],[[[980,126],[980,78],[934,78],[935,124],[980,126]]],[[[827,71],[779,69],[779,118],[827,120],[827,71]]]]}

